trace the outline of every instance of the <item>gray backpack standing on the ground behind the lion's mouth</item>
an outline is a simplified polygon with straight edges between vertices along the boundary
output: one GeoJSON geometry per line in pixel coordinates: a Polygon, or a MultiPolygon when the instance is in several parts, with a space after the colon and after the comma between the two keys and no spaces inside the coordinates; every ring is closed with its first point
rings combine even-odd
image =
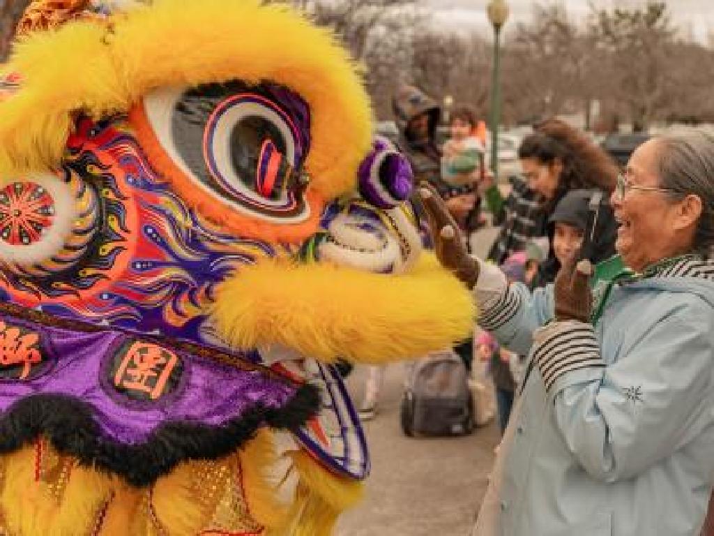
{"type": "Polygon", "coordinates": [[[400,420],[402,431],[410,437],[471,433],[468,371],[455,352],[433,352],[416,362],[406,380],[400,420]]]}

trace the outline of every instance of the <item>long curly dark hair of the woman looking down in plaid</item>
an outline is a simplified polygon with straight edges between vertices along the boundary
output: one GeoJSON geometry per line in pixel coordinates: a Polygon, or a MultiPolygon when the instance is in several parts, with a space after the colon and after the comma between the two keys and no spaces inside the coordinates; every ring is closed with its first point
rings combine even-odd
{"type": "Polygon", "coordinates": [[[552,212],[565,192],[599,188],[608,194],[615,188],[618,168],[607,153],[585,134],[560,119],[546,119],[533,126],[533,134],[518,147],[518,158],[535,158],[542,164],[563,162],[553,199],[545,204],[552,212]]]}

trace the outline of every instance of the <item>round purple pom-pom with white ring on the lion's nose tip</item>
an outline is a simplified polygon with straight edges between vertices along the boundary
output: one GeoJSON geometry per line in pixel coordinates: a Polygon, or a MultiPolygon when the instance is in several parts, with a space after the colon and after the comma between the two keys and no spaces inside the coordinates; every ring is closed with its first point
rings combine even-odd
{"type": "Polygon", "coordinates": [[[358,171],[359,191],[367,202],[383,210],[406,201],[413,188],[408,160],[383,137],[376,137],[373,149],[358,171]]]}

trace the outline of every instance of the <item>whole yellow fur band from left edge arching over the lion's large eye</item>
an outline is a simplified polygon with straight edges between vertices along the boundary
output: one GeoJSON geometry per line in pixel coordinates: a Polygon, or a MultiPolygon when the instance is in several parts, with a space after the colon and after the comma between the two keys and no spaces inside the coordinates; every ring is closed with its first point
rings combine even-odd
{"type": "Polygon", "coordinates": [[[237,79],[300,95],[311,115],[311,189],[322,199],[353,189],[371,144],[371,107],[326,29],[258,0],[154,0],[110,16],[64,16],[59,27],[20,36],[0,68],[19,79],[4,99],[0,88],[0,177],[59,167],[77,114],[100,119],[159,88],[237,79]]]}

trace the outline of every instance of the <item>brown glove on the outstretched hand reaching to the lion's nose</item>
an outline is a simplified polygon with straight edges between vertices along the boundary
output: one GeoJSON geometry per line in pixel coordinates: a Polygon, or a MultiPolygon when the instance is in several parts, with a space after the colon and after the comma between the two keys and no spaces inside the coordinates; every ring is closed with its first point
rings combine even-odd
{"type": "Polygon", "coordinates": [[[436,258],[444,268],[451,270],[468,288],[473,289],[478,280],[478,262],[468,254],[461,231],[449,214],[446,203],[430,184],[422,184],[418,193],[429,220],[436,258]]]}

